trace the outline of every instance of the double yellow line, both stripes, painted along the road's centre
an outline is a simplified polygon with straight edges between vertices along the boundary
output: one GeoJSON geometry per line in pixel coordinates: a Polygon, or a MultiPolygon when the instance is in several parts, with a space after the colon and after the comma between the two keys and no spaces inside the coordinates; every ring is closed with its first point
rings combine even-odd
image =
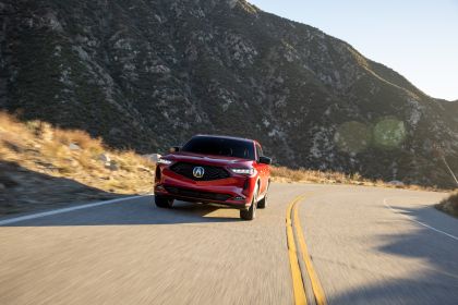
{"type": "Polygon", "coordinates": [[[326,305],[326,297],[325,297],[322,284],[320,283],[320,279],[316,276],[315,269],[313,268],[313,264],[310,258],[309,251],[306,248],[301,222],[299,220],[298,204],[304,198],[305,198],[304,195],[296,197],[289,204],[288,209],[287,209],[287,215],[286,215],[288,255],[289,255],[289,264],[291,267],[292,289],[294,292],[294,304],[296,305],[308,304],[306,293],[305,293],[305,288],[304,288],[304,280],[305,280],[304,277],[309,276],[316,304],[326,305]],[[292,217],[292,221],[291,221],[291,217],[292,217]],[[298,249],[296,246],[294,233],[292,231],[293,228],[296,231],[296,237],[299,243],[300,253],[298,253],[298,249]],[[305,265],[308,274],[301,273],[298,255],[301,255],[300,258],[302,258],[302,261],[305,265]]]}

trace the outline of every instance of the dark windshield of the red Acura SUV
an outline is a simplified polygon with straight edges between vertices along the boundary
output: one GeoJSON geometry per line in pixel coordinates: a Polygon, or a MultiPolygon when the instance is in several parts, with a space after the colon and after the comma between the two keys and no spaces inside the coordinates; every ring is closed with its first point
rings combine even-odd
{"type": "Polygon", "coordinates": [[[217,155],[254,160],[254,145],[248,141],[224,137],[193,137],[188,142],[182,151],[217,155]]]}

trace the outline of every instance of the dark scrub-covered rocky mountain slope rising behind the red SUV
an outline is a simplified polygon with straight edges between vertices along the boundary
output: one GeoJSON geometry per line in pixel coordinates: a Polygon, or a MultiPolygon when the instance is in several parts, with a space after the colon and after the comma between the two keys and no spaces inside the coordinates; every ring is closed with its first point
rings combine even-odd
{"type": "Polygon", "coordinates": [[[280,164],[450,186],[458,103],[244,0],[0,1],[0,108],[164,151],[260,139],[280,164]],[[435,147],[441,147],[436,149],[435,147]]]}

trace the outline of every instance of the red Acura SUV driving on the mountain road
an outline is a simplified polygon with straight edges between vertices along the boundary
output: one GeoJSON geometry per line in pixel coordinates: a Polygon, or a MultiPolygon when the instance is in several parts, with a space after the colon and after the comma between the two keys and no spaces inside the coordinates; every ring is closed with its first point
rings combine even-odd
{"type": "Polygon", "coordinates": [[[240,209],[245,220],[266,207],[272,161],[256,141],[196,135],[170,151],[157,162],[158,207],[170,208],[174,199],[220,204],[240,209]]]}

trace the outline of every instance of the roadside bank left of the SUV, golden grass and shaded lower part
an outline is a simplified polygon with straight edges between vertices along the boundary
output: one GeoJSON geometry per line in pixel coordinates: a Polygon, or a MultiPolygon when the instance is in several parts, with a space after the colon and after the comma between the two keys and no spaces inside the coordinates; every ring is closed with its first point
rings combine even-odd
{"type": "Polygon", "coordinates": [[[0,216],[149,193],[154,170],[85,132],[0,112],[0,216]]]}

